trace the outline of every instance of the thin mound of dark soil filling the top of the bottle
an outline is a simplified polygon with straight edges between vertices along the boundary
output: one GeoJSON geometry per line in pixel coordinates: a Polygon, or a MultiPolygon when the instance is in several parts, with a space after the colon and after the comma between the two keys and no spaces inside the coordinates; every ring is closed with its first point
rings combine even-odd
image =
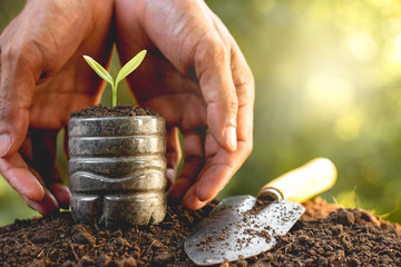
{"type": "Polygon", "coordinates": [[[131,117],[131,116],[157,116],[160,113],[151,109],[143,109],[133,106],[106,107],[96,105],[90,108],[72,111],[70,118],[75,117],[131,117]]]}

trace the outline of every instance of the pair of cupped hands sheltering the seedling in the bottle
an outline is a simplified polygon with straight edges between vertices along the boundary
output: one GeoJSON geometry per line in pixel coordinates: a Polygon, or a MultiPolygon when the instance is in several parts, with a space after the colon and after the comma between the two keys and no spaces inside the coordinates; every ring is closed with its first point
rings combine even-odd
{"type": "Polygon", "coordinates": [[[203,1],[28,0],[0,36],[0,174],[46,215],[68,206],[55,167],[56,136],[69,113],[100,100],[115,38],[134,97],[166,117],[169,189],[197,209],[213,199],[252,150],[254,81],[234,39],[203,1]]]}

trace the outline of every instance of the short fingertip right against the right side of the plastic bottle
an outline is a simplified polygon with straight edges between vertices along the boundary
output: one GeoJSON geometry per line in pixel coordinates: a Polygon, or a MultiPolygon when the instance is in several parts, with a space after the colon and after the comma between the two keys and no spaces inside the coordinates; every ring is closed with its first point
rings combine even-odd
{"type": "Polygon", "coordinates": [[[178,162],[182,158],[179,138],[178,138],[178,128],[168,127],[166,130],[166,159],[167,159],[167,170],[166,177],[167,180],[173,184],[176,178],[176,171],[178,162]]]}

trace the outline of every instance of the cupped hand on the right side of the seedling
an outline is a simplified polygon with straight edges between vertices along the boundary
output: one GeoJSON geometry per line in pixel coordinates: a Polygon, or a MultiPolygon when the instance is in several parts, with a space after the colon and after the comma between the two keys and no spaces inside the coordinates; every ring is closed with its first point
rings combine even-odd
{"type": "Polygon", "coordinates": [[[148,55],[128,77],[141,107],[166,117],[169,189],[189,209],[212,200],[252,150],[254,80],[235,40],[202,0],[116,0],[123,62],[148,55]]]}

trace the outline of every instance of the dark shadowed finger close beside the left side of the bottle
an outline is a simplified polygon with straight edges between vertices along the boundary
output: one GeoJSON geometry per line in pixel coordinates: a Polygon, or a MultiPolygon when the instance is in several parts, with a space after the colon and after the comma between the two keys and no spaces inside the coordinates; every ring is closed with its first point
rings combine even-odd
{"type": "Polygon", "coordinates": [[[45,186],[50,189],[60,206],[67,208],[71,194],[62,184],[61,176],[56,168],[57,131],[31,129],[30,137],[33,168],[39,172],[45,186]]]}

